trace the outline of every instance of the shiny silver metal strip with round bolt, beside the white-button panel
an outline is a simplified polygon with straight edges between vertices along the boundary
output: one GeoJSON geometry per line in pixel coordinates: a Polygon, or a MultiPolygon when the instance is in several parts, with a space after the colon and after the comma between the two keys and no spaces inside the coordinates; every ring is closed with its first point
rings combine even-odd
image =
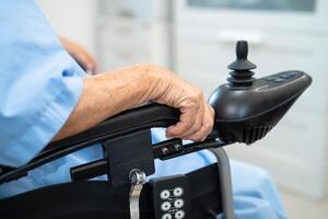
{"type": "Polygon", "coordinates": [[[145,173],[138,169],[133,169],[129,174],[129,178],[131,182],[131,191],[129,195],[130,219],[139,219],[139,199],[143,184],[145,183],[145,173]]]}

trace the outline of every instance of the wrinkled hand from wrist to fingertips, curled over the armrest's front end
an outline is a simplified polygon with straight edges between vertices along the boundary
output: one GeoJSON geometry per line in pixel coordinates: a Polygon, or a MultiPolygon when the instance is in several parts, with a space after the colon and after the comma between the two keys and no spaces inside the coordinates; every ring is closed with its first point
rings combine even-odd
{"type": "MultiPolygon", "coordinates": [[[[185,82],[167,69],[152,67],[164,84],[164,92],[154,101],[181,112],[179,122],[166,129],[167,137],[202,141],[211,132],[214,123],[214,110],[207,103],[200,89],[185,82]]],[[[159,90],[161,91],[161,89],[159,90]]]]}

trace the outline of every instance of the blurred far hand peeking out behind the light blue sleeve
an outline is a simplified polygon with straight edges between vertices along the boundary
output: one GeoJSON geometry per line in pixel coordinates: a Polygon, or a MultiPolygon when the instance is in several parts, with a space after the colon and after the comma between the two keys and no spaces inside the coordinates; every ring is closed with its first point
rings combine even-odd
{"type": "Polygon", "coordinates": [[[63,36],[59,36],[59,39],[66,50],[79,62],[79,65],[92,74],[97,71],[97,64],[92,55],[81,45],[72,42],[63,36]]]}

